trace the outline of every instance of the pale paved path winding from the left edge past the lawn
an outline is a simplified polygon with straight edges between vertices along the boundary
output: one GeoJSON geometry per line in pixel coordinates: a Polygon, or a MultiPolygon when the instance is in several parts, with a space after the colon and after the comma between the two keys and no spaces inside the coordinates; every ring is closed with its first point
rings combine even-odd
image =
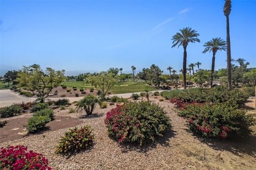
{"type": "MultiPolygon", "coordinates": [[[[157,90],[159,92],[165,91],[165,90],[157,90]]],[[[155,92],[155,91],[151,91],[155,92]]],[[[141,92],[134,92],[134,94],[140,94],[141,92]]],[[[114,95],[109,95],[110,97],[112,96],[118,96],[118,97],[123,97],[123,98],[130,98],[133,93],[128,93],[128,94],[114,94],[114,95]]],[[[82,99],[83,97],[66,97],[69,99],[69,101],[72,103],[73,101],[77,101],[82,99]]],[[[31,97],[23,97],[15,94],[9,89],[6,90],[0,90],[0,107],[5,107],[5,106],[10,106],[13,103],[21,103],[24,101],[25,103],[29,101],[34,101],[36,98],[31,98],[31,97]]],[[[58,100],[60,98],[49,98],[51,100],[58,100]]]]}

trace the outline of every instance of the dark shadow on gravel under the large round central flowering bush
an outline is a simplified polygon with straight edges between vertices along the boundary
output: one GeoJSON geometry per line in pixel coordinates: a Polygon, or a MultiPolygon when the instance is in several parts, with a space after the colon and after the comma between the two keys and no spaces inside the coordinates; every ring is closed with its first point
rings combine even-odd
{"type": "Polygon", "coordinates": [[[137,152],[142,152],[146,154],[149,150],[156,148],[158,144],[164,147],[170,146],[169,139],[173,138],[175,136],[175,133],[176,131],[173,131],[170,128],[163,134],[163,136],[157,137],[154,142],[151,142],[142,146],[131,144],[131,143],[124,143],[124,144],[121,144],[120,146],[122,147],[122,152],[124,153],[129,151],[137,151],[137,152]]]}

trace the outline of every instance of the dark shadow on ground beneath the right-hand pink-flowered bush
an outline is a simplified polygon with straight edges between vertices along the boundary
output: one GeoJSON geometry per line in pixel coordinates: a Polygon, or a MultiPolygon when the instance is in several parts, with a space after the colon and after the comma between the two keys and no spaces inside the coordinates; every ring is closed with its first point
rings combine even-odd
{"type": "Polygon", "coordinates": [[[229,151],[235,155],[248,154],[256,156],[256,136],[251,135],[246,138],[220,139],[220,138],[204,138],[199,134],[193,135],[214,150],[229,151]]]}

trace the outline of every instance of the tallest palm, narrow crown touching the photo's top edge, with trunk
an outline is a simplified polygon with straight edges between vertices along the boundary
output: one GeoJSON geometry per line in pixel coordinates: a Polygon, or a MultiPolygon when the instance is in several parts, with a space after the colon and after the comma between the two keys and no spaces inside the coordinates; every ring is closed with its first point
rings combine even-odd
{"type": "Polygon", "coordinates": [[[224,15],[226,16],[227,23],[227,70],[228,70],[228,90],[232,89],[231,84],[231,47],[230,47],[230,35],[229,35],[229,14],[231,11],[231,0],[225,0],[223,7],[224,15]]]}

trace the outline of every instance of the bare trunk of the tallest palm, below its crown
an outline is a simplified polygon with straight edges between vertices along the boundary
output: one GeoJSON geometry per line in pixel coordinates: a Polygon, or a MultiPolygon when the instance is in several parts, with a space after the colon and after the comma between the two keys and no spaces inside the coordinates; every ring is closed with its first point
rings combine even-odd
{"type": "Polygon", "coordinates": [[[227,19],[227,70],[228,70],[228,90],[232,90],[231,83],[231,51],[230,51],[230,35],[229,35],[229,16],[227,19]]]}

